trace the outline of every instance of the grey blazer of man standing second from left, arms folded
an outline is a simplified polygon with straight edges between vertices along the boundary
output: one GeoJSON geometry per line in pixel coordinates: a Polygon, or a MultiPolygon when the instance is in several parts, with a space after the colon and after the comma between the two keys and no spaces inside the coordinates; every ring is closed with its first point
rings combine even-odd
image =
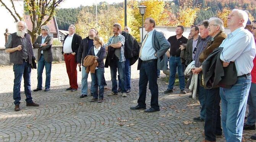
{"type": "Polygon", "coordinates": [[[37,61],[41,57],[41,51],[43,50],[44,59],[46,62],[52,62],[52,43],[53,43],[53,37],[47,35],[44,42],[47,42],[47,46],[41,47],[42,43],[42,36],[38,36],[35,43],[33,44],[34,48],[38,48],[37,51],[37,61]]]}

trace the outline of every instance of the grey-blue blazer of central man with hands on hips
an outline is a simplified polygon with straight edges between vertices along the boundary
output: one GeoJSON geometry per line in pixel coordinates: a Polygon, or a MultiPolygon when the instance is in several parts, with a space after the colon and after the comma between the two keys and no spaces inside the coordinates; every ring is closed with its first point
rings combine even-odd
{"type": "MultiPolygon", "coordinates": [[[[152,34],[152,46],[156,50],[157,69],[167,70],[168,58],[167,58],[167,55],[165,55],[165,53],[170,48],[169,41],[167,41],[167,39],[164,37],[162,33],[154,30],[152,34]]],[[[139,58],[138,68],[137,68],[138,70],[141,66],[141,62],[142,60],[139,58]]]]}

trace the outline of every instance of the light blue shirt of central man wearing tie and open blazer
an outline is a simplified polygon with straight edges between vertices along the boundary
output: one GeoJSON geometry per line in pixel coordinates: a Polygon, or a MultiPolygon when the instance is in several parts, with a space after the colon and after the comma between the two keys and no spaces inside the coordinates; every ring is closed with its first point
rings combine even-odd
{"type": "Polygon", "coordinates": [[[153,48],[152,45],[152,35],[155,29],[153,29],[152,31],[148,32],[148,36],[147,39],[144,43],[144,46],[141,50],[141,60],[143,61],[147,61],[147,60],[152,60],[152,59],[157,59],[157,57],[155,56],[156,54],[156,50],[153,48]]]}

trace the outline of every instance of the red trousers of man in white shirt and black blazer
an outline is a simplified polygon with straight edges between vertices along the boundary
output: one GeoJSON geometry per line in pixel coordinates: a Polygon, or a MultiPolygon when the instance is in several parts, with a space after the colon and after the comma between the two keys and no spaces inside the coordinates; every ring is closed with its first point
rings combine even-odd
{"type": "Polygon", "coordinates": [[[66,64],[66,72],[68,73],[68,79],[69,79],[69,84],[70,87],[73,89],[78,88],[77,84],[77,70],[76,70],[76,56],[75,55],[66,55],[64,54],[64,60],[66,64]]]}

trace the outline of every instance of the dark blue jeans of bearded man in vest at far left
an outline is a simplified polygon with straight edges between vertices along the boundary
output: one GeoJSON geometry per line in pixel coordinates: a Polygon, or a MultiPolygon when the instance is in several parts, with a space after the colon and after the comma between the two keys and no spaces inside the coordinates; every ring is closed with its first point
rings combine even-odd
{"type": "Polygon", "coordinates": [[[22,65],[14,64],[13,65],[13,71],[14,71],[14,84],[13,84],[13,99],[14,104],[18,105],[20,104],[21,100],[21,80],[22,76],[24,79],[24,91],[26,95],[26,102],[32,103],[32,97],[31,97],[31,85],[30,85],[30,76],[31,76],[31,65],[28,62],[24,62],[22,65]]]}

